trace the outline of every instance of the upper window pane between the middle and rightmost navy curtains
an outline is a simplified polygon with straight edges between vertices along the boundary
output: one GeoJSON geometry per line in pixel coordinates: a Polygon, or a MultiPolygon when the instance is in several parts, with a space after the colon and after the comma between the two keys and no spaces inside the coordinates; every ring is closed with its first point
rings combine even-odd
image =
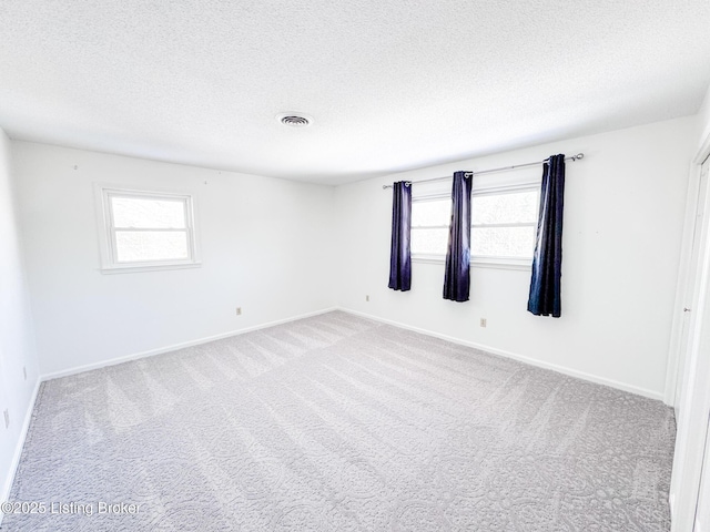
{"type": "Polygon", "coordinates": [[[537,191],[471,197],[471,219],[477,224],[537,222],[537,191]]]}

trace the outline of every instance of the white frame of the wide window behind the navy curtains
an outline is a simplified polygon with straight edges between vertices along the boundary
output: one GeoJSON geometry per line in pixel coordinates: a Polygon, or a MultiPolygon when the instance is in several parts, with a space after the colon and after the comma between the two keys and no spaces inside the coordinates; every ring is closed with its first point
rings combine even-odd
{"type": "MultiPolygon", "coordinates": [[[[488,176],[487,176],[488,177],[488,176]]],[[[494,177],[494,176],[490,176],[494,177]]],[[[474,174],[474,180],[475,180],[474,174]]],[[[514,194],[517,192],[535,192],[537,194],[537,204],[535,207],[535,212],[539,212],[540,207],[540,177],[536,178],[524,178],[524,180],[501,180],[503,182],[496,183],[493,180],[480,180],[483,183],[476,184],[474,181],[474,186],[471,190],[471,203],[475,196],[483,195],[500,195],[500,194],[514,194]]],[[[430,190],[428,192],[424,192],[422,194],[417,194],[416,197],[413,197],[414,202],[426,202],[426,201],[436,201],[436,200],[448,200],[450,202],[450,184],[446,184],[446,190],[430,190]]],[[[531,223],[525,224],[491,224],[493,226],[534,226],[537,227],[538,221],[537,218],[531,223]]],[[[487,227],[490,225],[485,224],[473,224],[471,231],[474,227],[487,227]]],[[[416,231],[417,228],[440,228],[442,226],[415,226],[414,219],[412,224],[412,231],[416,231]]],[[[448,228],[448,225],[446,226],[448,228]]],[[[530,257],[510,257],[510,256],[481,256],[481,255],[470,255],[470,265],[474,267],[491,267],[491,268],[503,268],[503,269],[530,269],[532,266],[532,254],[530,257]]],[[[437,255],[437,254],[427,254],[427,253],[413,253],[412,260],[417,263],[432,263],[432,264],[442,264],[446,262],[446,254],[437,255]]]]}

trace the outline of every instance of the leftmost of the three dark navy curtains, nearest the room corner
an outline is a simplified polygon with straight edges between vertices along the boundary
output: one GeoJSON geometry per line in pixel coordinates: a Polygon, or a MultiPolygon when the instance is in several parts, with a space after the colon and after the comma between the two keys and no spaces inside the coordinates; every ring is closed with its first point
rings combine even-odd
{"type": "Polygon", "coordinates": [[[392,187],[392,247],[389,288],[406,291],[412,287],[412,184],[399,181],[392,187]]]}

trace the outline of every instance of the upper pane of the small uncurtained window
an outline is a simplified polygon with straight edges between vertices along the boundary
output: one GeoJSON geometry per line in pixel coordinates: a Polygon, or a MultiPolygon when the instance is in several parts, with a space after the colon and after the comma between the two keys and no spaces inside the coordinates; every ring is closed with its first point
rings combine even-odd
{"type": "Polygon", "coordinates": [[[145,229],[184,228],[185,202],[111,196],[115,227],[145,229]]]}

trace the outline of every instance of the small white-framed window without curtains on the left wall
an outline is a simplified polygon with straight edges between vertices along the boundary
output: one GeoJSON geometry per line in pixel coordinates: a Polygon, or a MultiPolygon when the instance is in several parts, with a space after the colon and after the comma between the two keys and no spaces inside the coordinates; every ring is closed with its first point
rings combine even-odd
{"type": "Polygon", "coordinates": [[[104,272],[197,266],[193,197],[100,186],[104,272]]]}

